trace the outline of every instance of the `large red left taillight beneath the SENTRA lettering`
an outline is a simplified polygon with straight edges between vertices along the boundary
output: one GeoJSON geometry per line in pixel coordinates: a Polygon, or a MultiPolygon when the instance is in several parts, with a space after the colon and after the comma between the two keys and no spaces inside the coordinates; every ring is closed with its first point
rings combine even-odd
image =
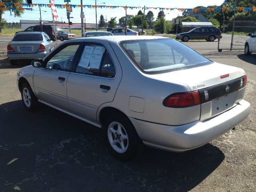
{"type": "Polygon", "coordinates": [[[165,98],[163,105],[166,107],[182,108],[201,103],[199,91],[174,93],[165,98]]]}

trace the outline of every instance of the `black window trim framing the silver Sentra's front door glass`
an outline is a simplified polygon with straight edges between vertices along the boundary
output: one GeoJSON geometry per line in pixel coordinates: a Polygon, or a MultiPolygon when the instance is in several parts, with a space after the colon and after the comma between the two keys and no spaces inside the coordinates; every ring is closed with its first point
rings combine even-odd
{"type": "MultiPolygon", "coordinates": [[[[73,66],[74,66],[74,63],[76,61],[76,58],[78,56],[78,54],[80,53],[80,48],[81,48],[81,45],[82,45],[83,42],[70,42],[70,43],[65,43],[63,45],[60,45],[56,50],[54,50],[53,52],[50,52],[50,54],[48,55],[48,57],[44,60],[44,67],[43,68],[46,68],[46,64],[47,62],[54,56],[56,55],[56,53],[60,52],[61,50],[63,50],[64,48],[70,46],[70,45],[79,45],[78,46],[78,49],[76,50],[75,54],[74,54],[74,58],[72,60],[72,63],[70,65],[70,68],[69,68],[69,71],[68,73],[72,72],[72,69],[73,69],[73,66]]],[[[52,69],[51,69],[52,70],[52,69]]],[[[63,72],[62,70],[57,70],[57,71],[61,71],[63,72]]],[[[65,71],[64,71],[65,72],[65,71]]]]}

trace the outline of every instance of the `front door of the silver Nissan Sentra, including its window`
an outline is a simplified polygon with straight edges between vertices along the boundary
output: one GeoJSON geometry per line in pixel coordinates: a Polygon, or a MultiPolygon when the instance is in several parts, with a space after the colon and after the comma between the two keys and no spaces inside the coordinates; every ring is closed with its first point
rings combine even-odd
{"type": "Polygon", "coordinates": [[[38,99],[69,110],[66,82],[79,46],[80,42],[63,44],[44,60],[43,68],[36,68],[33,82],[38,99]]]}

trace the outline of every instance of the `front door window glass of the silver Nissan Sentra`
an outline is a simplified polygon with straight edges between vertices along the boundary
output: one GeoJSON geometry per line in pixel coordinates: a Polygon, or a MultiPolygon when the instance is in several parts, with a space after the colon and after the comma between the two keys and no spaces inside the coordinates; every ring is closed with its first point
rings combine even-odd
{"type": "Polygon", "coordinates": [[[66,46],[57,52],[46,64],[47,69],[70,71],[72,60],[76,54],[79,44],[66,46]]]}

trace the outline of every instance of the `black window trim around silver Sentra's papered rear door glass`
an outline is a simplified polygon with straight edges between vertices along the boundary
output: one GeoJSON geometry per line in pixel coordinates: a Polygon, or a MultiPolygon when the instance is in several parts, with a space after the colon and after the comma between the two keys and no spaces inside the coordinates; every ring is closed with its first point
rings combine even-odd
{"type": "MultiPolygon", "coordinates": [[[[109,56],[110,56],[110,58],[111,58],[111,60],[112,60],[113,65],[114,65],[115,72],[117,71],[117,70],[116,70],[116,65],[115,65],[115,63],[114,63],[114,60],[113,60],[113,58],[112,58],[110,52],[108,51],[108,48],[106,48],[106,46],[105,46],[104,44],[100,43],[100,42],[87,41],[87,42],[83,42],[83,43],[80,45],[80,53],[79,53],[79,56],[76,57],[76,61],[74,62],[75,64],[74,64],[74,66],[73,66],[73,68],[72,68],[71,73],[72,73],[72,74],[86,75],[86,76],[91,76],[91,77],[100,77],[100,78],[106,78],[106,79],[114,79],[114,78],[116,77],[116,74],[115,74],[114,77],[110,78],[110,77],[94,76],[94,75],[90,75],[90,74],[82,74],[82,73],[77,73],[77,72],[76,72],[76,67],[78,66],[78,62],[79,62],[79,60],[80,60],[80,56],[82,56],[82,52],[83,52],[83,50],[84,50],[84,47],[85,47],[87,44],[97,44],[97,45],[103,46],[103,47],[106,49],[105,52],[104,52],[104,57],[105,57],[106,51],[107,51],[108,54],[109,54],[109,56]]],[[[100,68],[102,68],[102,63],[103,63],[103,58],[102,58],[101,61],[100,61],[100,68]]]]}

